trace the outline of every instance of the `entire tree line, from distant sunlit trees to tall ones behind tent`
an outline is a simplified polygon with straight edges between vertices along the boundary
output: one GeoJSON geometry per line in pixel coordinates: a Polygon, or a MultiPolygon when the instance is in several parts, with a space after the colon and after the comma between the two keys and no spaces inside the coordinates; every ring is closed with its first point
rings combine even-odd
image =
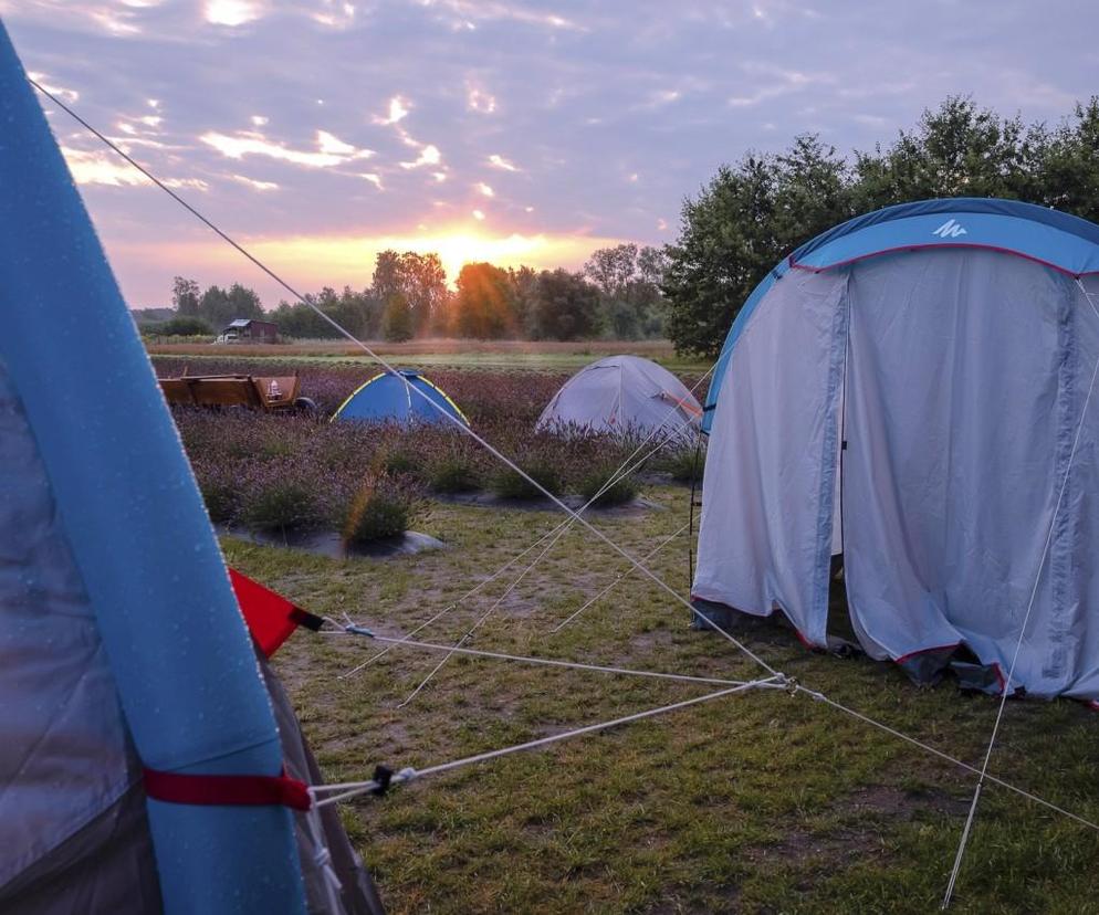
{"type": "MultiPolygon", "coordinates": [[[[752,290],[798,245],[860,213],[942,197],[1025,200],[1099,222],[1099,96],[1053,127],[951,96],[892,143],[850,157],[818,135],[797,136],[781,152],[720,166],[684,200],[672,244],[600,249],[578,273],[470,263],[451,290],[438,255],[384,251],[366,288],[310,298],[364,338],[667,336],[681,354],[712,358],[752,290]]],[[[176,277],[172,304],[172,323],[205,323],[190,333],[264,316],[239,284],[200,293],[176,277]]],[[[301,303],[266,317],[290,337],[338,336],[301,303]]]]}

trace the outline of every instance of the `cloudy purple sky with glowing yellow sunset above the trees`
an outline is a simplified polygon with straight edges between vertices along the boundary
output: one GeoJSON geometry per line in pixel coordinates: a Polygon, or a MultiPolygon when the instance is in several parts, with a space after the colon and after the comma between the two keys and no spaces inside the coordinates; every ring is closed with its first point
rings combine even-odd
{"type": "MultiPolygon", "coordinates": [[[[888,144],[950,94],[1059,122],[1091,0],[0,0],[27,71],[303,291],[387,248],[578,269],[672,242],[723,162],[888,144]]],[[[130,307],[286,297],[49,102],[130,307]]]]}

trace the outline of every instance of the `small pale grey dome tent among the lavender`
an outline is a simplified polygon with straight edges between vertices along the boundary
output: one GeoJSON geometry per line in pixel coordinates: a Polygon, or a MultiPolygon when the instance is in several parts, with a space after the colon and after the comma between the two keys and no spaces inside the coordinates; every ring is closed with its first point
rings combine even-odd
{"type": "Polygon", "coordinates": [[[702,406],[668,369],[639,356],[610,356],[569,378],[535,428],[689,437],[701,420],[702,406]]]}

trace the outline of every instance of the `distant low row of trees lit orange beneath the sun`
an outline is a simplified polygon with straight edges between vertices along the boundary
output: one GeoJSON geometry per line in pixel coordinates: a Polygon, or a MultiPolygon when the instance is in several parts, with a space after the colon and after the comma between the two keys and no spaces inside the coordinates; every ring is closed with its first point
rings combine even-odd
{"type": "Polygon", "coordinates": [[[659,337],[666,317],[660,288],[664,265],[660,249],[619,244],[594,252],[576,273],[469,263],[451,290],[438,254],[383,251],[369,286],[342,292],[325,287],[306,295],[307,304],[283,301],[266,313],[255,292],[239,283],[201,292],[193,280],[177,276],[170,320],[147,327],[164,335],[210,335],[234,318],[263,318],[297,339],[339,337],[331,322],[363,339],[391,341],[659,337]]]}

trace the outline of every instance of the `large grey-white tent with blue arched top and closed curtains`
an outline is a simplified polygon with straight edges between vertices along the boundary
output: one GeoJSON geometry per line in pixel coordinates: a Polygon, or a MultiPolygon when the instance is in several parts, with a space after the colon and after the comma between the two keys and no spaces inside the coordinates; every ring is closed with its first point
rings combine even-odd
{"type": "Polygon", "coordinates": [[[825,645],[1099,698],[1099,225],[1006,200],[852,219],[741,309],[705,406],[693,595],[825,645]]]}

